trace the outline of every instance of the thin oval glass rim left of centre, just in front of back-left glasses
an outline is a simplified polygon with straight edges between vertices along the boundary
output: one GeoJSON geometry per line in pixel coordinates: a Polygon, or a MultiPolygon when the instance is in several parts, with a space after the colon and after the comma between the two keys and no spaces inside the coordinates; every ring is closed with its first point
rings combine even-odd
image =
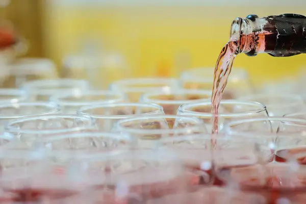
{"type": "MultiPolygon", "coordinates": [[[[99,105],[104,103],[120,103],[120,101],[125,99],[125,95],[120,92],[114,92],[110,90],[88,90],[84,93],[74,93],[73,91],[70,93],[59,93],[54,94],[49,98],[50,101],[59,104],[60,106],[90,106],[90,105],[99,105]],[[78,94],[77,94],[78,93],[78,94]],[[82,101],[73,101],[73,100],[65,100],[67,97],[75,97],[75,96],[116,96],[114,99],[98,99],[98,100],[82,100],[82,101]]],[[[77,100],[77,99],[76,99],[77,100]]]]}

